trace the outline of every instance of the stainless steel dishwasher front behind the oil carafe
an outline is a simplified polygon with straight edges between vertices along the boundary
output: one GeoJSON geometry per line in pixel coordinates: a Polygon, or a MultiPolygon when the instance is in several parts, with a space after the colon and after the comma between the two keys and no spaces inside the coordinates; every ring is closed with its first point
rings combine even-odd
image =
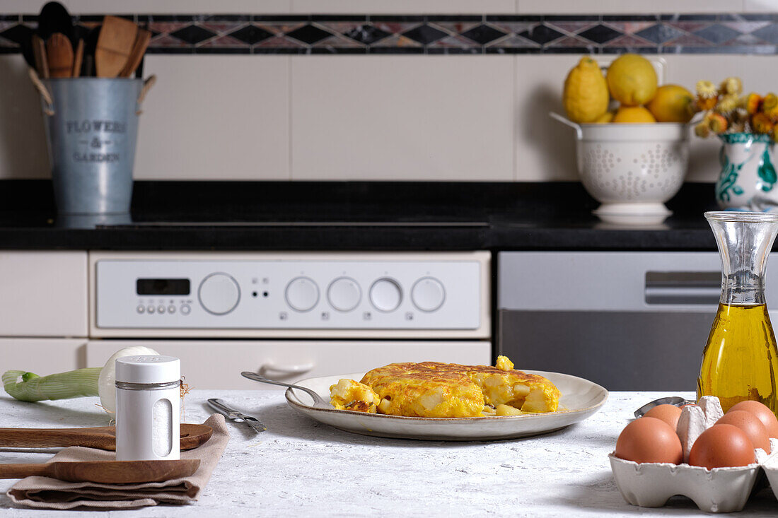
{"type": "Polygon", "coordinates": [[[721,292],[717,252],[503,252],[497,268],[497,351],[517,369],[608,390],[695,390],[721,292]]]}

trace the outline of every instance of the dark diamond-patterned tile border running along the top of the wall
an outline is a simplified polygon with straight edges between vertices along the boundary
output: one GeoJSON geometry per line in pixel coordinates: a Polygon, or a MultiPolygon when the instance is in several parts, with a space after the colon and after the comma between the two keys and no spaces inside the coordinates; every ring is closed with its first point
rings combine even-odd
{"type": "MultiPolygon", "coordinates": [[[[128,14],[150,54],[776,54],[778,14],[128,14]]],[[[89,30],[102,16],[73,16],[89,30]]],[[[0,54],[37,16],[0,14],[0,54]]]]}

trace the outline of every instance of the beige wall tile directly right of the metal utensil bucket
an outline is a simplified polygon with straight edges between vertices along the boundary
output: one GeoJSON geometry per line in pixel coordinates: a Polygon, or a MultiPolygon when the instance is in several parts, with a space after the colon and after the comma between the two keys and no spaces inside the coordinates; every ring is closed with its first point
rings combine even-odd
{"type": "Polygon", "coordinates": [[[146,58],[135,179],[289,179],[289,58],[146,58]]]}

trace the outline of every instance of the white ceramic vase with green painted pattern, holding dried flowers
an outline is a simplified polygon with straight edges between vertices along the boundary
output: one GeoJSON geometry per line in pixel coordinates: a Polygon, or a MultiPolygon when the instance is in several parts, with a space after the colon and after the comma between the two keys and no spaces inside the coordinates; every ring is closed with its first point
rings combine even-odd
{"type": "Polygon", "coordinates": [[[716,201],[721,208],[778,212],[775,143],[769,135],[719,135],[721,172],[716,201]]]}

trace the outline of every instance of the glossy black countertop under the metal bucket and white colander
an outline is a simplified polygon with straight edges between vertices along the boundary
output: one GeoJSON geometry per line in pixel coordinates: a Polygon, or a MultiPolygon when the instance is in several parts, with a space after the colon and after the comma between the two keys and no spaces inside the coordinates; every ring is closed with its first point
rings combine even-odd
{"type": "Polygon", "coordinates": [[[0,181],[5,250],[716,250],[712,184],[617,227],[578,182],[135,182],[131,219],[68,222],[51,181],[0,181]],[[86,227],[86,228],[79,228],[86,227]]]}

